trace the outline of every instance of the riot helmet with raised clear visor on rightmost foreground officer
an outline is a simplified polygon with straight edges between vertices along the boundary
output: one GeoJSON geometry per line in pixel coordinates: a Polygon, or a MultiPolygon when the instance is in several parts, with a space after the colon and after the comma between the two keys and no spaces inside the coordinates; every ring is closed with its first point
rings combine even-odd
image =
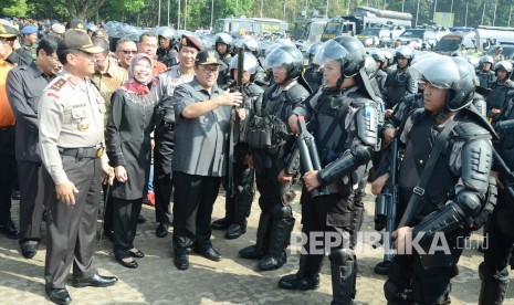
{"type": "Polygon", "coordinates": [[[475,73],[463,57],[436,54],[417,61],[410,71],[419,83],[429,82],[432,86],[448,90],[443,112],[460,111],[473,99],[475,73]]]}

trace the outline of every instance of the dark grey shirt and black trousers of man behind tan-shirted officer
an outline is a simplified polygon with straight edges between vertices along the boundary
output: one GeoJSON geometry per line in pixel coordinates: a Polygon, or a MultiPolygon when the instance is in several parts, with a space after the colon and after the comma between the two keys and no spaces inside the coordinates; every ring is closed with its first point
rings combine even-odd
{"type": "MultiPolygon", "coordinates": [[[[43,167],[39,147],[38,102],[41,92],[54,76],[44,74],[32,62],[19,66],[8,76],[8,96],[17,117],[17,160],[20,179],[20,229],[22,254],[24,244],[41,241],[41,220],[44,210],[43,167]]],[[[34,249],[35,250],[35,249],[34,249]]],[[[28,255],[33,255],[35,252],[28,255]]]]}

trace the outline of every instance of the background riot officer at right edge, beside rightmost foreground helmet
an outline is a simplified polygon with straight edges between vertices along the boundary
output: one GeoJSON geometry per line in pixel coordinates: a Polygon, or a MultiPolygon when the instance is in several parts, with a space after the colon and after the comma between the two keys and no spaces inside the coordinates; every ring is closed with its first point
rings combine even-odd
{"type": "Polygon", "coordinates": [[[506,94],[514,88],[514,82],[508,80],[512,75],[512,63],[497,62],[494,66],[496,81],[491,84],[491,93],[487,95],[487,117],[494,119],[501,113],[506,103],[506,94]]]}

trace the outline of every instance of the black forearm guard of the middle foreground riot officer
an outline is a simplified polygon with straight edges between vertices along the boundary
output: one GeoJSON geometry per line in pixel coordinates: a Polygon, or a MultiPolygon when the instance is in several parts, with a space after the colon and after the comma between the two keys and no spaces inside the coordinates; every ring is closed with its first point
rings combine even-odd
{"type": "Polygon", "coordinates": [[[339,158],[319,170],[317,178],[325,186],[345,177],[356,170],[359,166],[367,164],[373,156],[373,148],[358,145],[343,152],[339,158]]]}

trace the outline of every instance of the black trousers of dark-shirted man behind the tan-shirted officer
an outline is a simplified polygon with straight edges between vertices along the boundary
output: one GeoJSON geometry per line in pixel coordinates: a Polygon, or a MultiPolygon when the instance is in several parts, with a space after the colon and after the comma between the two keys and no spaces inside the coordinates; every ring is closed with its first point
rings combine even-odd
{"type": "Polygon", "coordinates": [[[41,162],[18,161],[20,177],[20,243],[25,241],[41,241],[41,222],[45,206],[44,167],[41,162]]]}

